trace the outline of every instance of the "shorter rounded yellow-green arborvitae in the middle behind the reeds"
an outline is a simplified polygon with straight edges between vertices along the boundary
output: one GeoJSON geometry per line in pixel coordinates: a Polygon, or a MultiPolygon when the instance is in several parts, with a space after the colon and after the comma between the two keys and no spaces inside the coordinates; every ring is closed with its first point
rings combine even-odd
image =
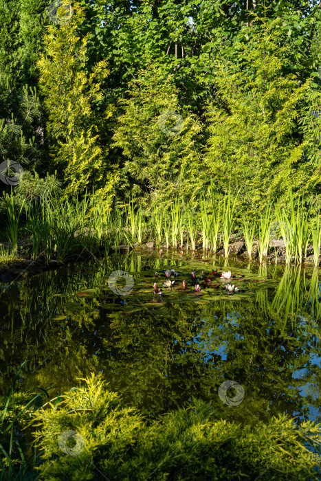
{"type": "Polygon", "coordinates": [[[127,94],[113,139],[126,159],[131,194],[145,192],[159,202],[179,192],[195,197],[206,177],[197,145],[201,124],[179,106],[173,78],[150,65],[129,83],[127,94]]]}

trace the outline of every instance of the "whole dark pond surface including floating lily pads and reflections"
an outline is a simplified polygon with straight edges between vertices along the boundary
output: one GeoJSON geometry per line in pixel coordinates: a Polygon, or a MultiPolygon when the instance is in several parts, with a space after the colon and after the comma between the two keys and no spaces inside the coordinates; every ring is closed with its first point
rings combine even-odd
{"type": "Polygon", "coordinates": [[[8,395],[28,359],[16,389],[52,388],[52,398],[103,372],[111,390],[150,418],[197,397],[240,422],[278,413],[320,422],[318,269],[223,263],[205,255],[115,255],[4,285],[0,394],[8,395]],[[181,272],[173,289],[162,287],[162,269],[181,272]],[[237,293],[214,273],[222,269],[236,276],[237,293]],[[111,290],[114,271],[133,278],[111,290]],[[204,293],[195,295],[191,271],[204,293]],[[226,381],[236,390],[219,391],[226,381]]]}

